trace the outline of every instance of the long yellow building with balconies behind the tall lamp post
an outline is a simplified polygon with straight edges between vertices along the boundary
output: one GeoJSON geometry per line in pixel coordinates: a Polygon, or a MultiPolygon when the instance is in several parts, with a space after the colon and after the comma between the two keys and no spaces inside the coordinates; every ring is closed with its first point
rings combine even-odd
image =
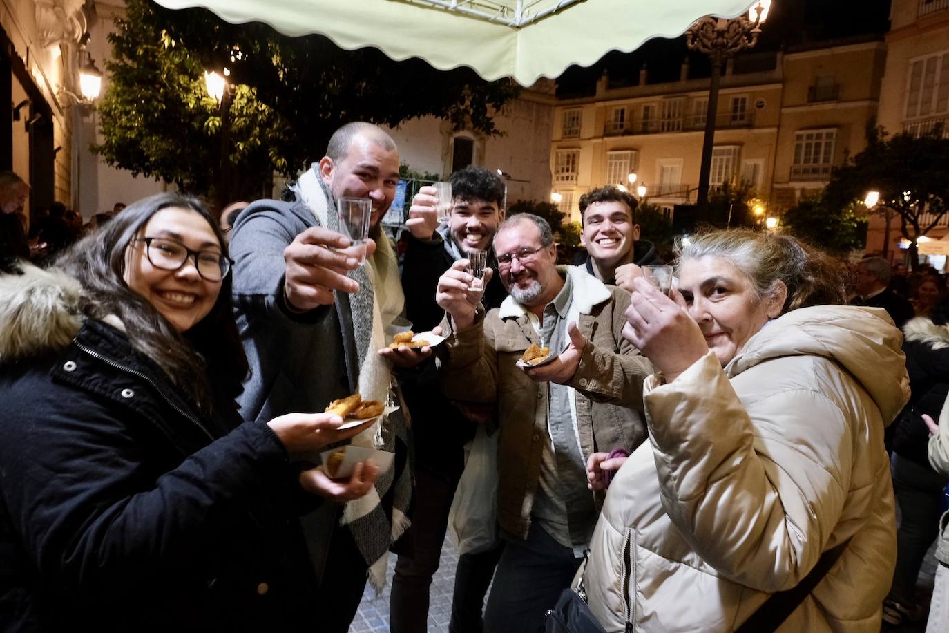
{"type": "MultiPolygon", "coordinates": [[[[830,169],[864,146],[876,116],[885,59],[880,38],[748,55],[729,63],[720,84],[710,181],[745,180],[770,213],[827,184],[830,169]]],[[[694,202],[709,80],[640,82],[558,100],[550,168],[553,192],[579,220],[580,195],[605,184],[644,185],[649,202],[672,214],[694,202]]]]}

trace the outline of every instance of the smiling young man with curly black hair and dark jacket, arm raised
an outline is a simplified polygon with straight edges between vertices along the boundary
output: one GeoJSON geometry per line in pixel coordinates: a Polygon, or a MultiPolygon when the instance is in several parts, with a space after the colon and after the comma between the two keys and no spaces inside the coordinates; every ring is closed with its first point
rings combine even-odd
{"type": "MultiPolygon", "coordinates": [[[[504,183],[483,167],[457,171],[452,183],[452,214],[439,224],[434,187],[422,187],[409,209],[410,236],[402,266],[405,316],[416,332],[432,329],[444,316],[435,293],[438,278],[468,251],[489,251],[488,266],[496,267],[492,240],[504,218],[504,183]]],[[[496,274],[483,297],[497,307],[507,292],[496,274]]],[[[399,561],[392,579],[389,606],[393,633],[427,630],[429,587],[438,568],[441,544],[448,527],[458,479],[465,466],[464,446],[474,437],[475,423],[442,394],[435,367],[423,365],[400,377],[412,411],[415,440],[416,501],[412,528],[400,542],[399,561]]],[[[468,413],[472,414],[469,408],[468,413]]],[[[481,631],[481,606],[491,583],[499,550],[463,553],[458,560],[451,629],[481,631]],[[478,587],[478,588],[473,588],[478,587]]]]}

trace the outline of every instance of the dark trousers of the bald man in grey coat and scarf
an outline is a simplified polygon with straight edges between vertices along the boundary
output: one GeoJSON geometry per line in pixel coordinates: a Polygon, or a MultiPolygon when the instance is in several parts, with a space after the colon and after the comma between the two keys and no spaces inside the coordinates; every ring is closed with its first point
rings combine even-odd
{"type": "MultiPolygon", "coordinates": [[[[341,513],[342,507],[337,515],[341,513]]],[[[326,554],[323,581],[313,607],[315,630],[321,633],[346,633],[349,630],[363,600],[367,571],[352,532],[337,521],[326,554]]]]}

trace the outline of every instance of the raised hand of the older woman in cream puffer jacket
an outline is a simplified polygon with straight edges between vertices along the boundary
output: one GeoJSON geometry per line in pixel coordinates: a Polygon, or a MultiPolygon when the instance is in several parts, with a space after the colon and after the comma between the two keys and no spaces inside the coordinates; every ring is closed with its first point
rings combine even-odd
{"type": "Polygon", "coordinates": [[[623,338],[636,345],[668,382],[709,351],[679,290],[673,289],[669,298],[642,277],[633,280],[623,338]]]}

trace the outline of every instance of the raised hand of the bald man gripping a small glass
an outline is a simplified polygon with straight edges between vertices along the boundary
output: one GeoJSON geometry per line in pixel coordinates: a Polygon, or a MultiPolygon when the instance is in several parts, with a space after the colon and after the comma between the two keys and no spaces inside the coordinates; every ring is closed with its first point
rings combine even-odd
{"type": "MultiPolygon", "coordinates": [[[[296,236],[284,250],[284,299],[290,309],[304,312],[329,306],[335,300],[335,291],[359,289],[359,284],[346,276],[360,263],[358,254],[345,251],[350,246],[348,237],[324,227],[311,227],[296,236]]],[[[365,249],[368,257],[376,250],[376,243],[369,240],[365,249]]]]}

